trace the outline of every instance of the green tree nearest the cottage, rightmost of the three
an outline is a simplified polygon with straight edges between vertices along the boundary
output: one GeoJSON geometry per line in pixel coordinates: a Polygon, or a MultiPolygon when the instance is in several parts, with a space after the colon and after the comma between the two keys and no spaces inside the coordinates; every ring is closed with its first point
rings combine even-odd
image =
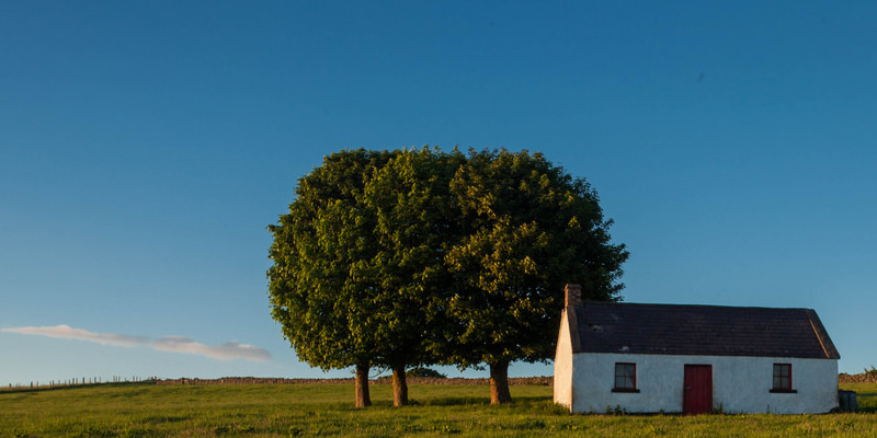
{"type": "Polygon", "coordinates": [[[567,283],[615,300],[628,253],[612,244],[596,193],[540,153],[469,151],[451,181],[464,232],[445,255],[454,279],[436,350],[463,368],[487,364],[491,403],[511,401],[509,364],[554,354],[567,283]]]}

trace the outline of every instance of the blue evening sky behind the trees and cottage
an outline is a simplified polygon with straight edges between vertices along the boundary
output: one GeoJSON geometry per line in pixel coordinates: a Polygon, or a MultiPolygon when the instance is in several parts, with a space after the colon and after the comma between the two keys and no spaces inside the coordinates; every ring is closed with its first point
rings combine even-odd
{"type": "Polygon", "coordinates": [[[586,177],[626,301],[813,308],[842,371],[877,365],[875,23],[874,2],[0,2],[0,384],[323,376],[270,316],[265,227],[323,155],[423,145],[586,177]]]}

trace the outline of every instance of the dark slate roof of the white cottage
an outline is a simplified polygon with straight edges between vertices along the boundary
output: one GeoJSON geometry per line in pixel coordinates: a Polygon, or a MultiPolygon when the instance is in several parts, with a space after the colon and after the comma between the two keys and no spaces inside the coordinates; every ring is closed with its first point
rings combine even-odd
{"type": "Polygon", "coordinates": [[[573,353],[841,357],[812,309],[589,301],[568,316],[573,353]]]}

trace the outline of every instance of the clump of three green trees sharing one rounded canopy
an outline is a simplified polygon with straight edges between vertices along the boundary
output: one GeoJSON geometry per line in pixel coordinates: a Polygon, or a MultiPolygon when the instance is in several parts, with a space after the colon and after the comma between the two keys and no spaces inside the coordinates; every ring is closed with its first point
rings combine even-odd
{"type": "Polygon", "coordinates": [[[345,150],[298,181],[274,235],[272,314],[299,358],[357,371],[487,364],[491,400],[511,400],[508,366],[545,360],[562,286],[614,300],[623,244],[596,193],[527,151],[345,150]]]}

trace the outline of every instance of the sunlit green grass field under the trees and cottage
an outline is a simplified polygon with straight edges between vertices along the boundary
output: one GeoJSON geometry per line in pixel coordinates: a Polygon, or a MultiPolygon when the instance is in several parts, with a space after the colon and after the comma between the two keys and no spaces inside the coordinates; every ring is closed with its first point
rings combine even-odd
{"type": "Polygon", "coordinates": [[[512,387],[515,403],[491,406],[483,385],[411,385],[418,404],[352,407],[353,388],[116,384],[0,392],[0,437],[874,437],[877,383],[847,383],[856,414],[569,415],[551,388],[512,387]]]}

